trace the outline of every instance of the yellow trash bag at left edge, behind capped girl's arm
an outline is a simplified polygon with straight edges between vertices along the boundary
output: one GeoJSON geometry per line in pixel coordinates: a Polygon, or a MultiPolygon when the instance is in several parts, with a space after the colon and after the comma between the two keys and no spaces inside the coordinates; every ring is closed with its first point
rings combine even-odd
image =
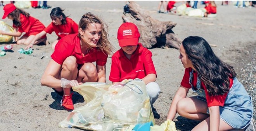
{"type": "MultiPolygon", "coordinates": [[[[5,32],[14,32],[13,28],[6,24],[5,22],[0,20],[0,30],[5,32]]],[[[0,43],[5,42],[12,42],[12,36],[9,35],[0,35],[0,43]]]]}

